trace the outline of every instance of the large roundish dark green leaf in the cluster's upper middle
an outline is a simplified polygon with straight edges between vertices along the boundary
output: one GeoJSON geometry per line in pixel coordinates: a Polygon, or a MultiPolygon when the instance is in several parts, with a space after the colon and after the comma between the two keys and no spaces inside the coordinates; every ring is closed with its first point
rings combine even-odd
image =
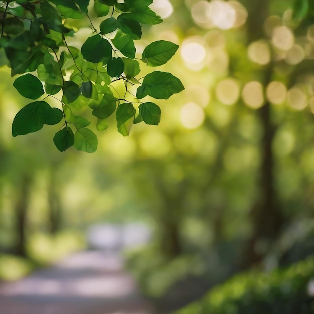
{"type": "Polygon", "coordinates": [[[107,63],[112,58],[112,46],[100,35],[89,37],[81,48],[82,55],[87,61],[107,63]]]}

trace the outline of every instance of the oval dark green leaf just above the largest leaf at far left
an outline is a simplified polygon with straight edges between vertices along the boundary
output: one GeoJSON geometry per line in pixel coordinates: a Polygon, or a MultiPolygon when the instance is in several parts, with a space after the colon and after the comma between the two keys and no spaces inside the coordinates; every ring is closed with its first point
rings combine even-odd
{"type": "Polygon", "coordinates": [[[42,82],[36,76],[29,73],[18,77],[14,81],[13,86],[26,98],[37,99],[44,95],[42,82]]]}

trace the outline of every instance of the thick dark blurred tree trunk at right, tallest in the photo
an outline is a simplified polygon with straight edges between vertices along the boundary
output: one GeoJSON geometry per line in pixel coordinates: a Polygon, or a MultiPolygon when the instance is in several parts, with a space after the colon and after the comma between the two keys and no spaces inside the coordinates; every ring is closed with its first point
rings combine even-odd
{"type": "MultiPolygon", "coordinates": [[[[254,1],[248,4],[249,15],[247,21],[248,44],[263,37],[263,23],[268,17],[269,1],[254,1]]],[[[266,87],[272,79],[272,65],[264,70],[264,81],[266,87]]],[[[262,162],[260,167],[259,192],[260,199],[251,211],[252,234],[248,241],[244,266],[249,266],[260,262],[265,254],[265,249],[269,241],[274,239],[283,224],[283,215],[280,205],[276,199],[274,189],[274,156],[272,142],[276,132],[276,125],[271,120],[271,105],[266,102],[258,109],[258,117],[263,129],[261,140],[262,162]],[[263,241],[265,241],[263,243],[263,241]],[[265,244],[264,248],[258,249],[258,244],[265,244]]]]}

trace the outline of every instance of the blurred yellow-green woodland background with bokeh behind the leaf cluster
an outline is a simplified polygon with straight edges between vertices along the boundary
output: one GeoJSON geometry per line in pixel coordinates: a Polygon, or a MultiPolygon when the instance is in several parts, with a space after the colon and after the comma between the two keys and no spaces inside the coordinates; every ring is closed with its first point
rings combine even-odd
{"type": "MultiPolygon", "coordinates": [[[[155,0],[151,7],[164,22],[144,27],[137,52],[161,39],[179,44],[160,70],[185,90],[159,101],[159,126],[134,125],[125,138],[112,120],[97,133],[94,154],[57,151],[58,127],[13,138],[12,120],[26,103],[10,70],[0,69],[0,278],[87,248],[94,224],[141,222],[152,240],[124,252],[126,266],[161,310],[195,301],[184,313],[245,313],[252,300],[272,304],[287,267],[298,268],[283,300],[295,296],[304,313],[314,310],[312,2],[155,0]],[[242,303],[252,276],[268,292],[252,292],[244,305],[229,302],[224,286],[205,294],[239,272],[226,285],[238,284],[242,303]]],[[[80,23],[84,34],[89,22],[80,23]]]]}

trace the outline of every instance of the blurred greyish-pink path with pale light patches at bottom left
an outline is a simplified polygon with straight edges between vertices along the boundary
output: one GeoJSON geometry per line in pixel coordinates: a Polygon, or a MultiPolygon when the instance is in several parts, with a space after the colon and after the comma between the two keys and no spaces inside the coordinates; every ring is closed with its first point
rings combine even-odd
{"type": "Polygon", "coordinates": [[[76,253],[0,285],[0,314],[153,314],[116,253],[76,253]]]}

